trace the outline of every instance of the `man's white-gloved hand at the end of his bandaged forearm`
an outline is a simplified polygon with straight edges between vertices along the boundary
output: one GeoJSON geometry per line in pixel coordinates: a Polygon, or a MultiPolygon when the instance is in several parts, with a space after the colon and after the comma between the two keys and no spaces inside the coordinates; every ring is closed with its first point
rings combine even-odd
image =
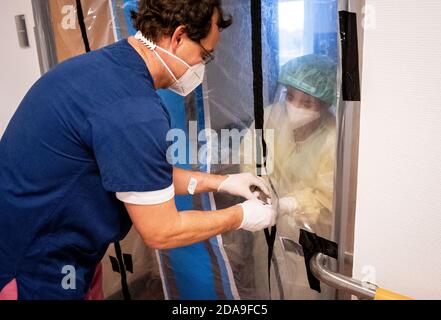
{"type": "Polygon", "coordinates": [[[218,192],[224,192],[245,199],[257,199],[258,194],[252,192],[252,187],[259,188],[267,197],[271,197],[268,184],[262,178],[251,173],[229,175],[219,186],[218,192]]]}

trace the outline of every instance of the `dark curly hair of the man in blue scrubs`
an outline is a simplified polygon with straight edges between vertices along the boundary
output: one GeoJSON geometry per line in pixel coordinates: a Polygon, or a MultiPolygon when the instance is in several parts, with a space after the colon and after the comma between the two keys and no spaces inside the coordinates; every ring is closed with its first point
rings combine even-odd
{"type": "Polygon", "coordinates": [[[176,28],[185,26],[190,39],[199,42],[208,36],[215,10],[219,11],[217,25],[221,30],[232,24],[225,17],[222,0],[141,0],[138,12],[132,11],[134,27],[153,41],[171,36],[176,28]]]}

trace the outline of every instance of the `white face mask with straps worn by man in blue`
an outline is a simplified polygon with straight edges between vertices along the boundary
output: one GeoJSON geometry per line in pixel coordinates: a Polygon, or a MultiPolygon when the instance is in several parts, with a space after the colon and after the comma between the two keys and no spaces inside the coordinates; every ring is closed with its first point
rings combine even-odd
{"type": "Polygon", "coordinates": [[[168,73],[172,76],[172,78],[175,80],[175,82],[168,88],[169,90],[186,97],[191,92],[193,92],[197,87],[199,87],[203,80],[204,80],[204,74],[205,74],[205,65],[203,63],[199,63],[194,66],[190,66],[187,62],[179,58],[178,56],[174,55],[173,53],[158,47],[156,44],[154,44],[152,41],[146,39],[141,31],[138,31],[135,35],[135,39],[141,41],[144,45],[147,46],[151,51],[153,51],[158,59],[161,61],[161,63],[164,65],[164,67],[167,69],[168,73]],[[172,56],[173,58],[177,59],[181,63],[183,63],[188,70],[184,73],[184,75],[177,79],[176,76],[173,74],[173,72],[170,70],[169,66],[165,63],[165,61],[161,58],[161,56],[156,52],[155,49],[159,49],[166,54],[172,56]]]}

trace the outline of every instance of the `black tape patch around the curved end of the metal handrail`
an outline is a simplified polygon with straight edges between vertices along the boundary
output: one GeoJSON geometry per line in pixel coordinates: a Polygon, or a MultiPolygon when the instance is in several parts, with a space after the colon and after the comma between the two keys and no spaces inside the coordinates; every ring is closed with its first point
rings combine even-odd
{"type": "Polygon", "coordinates": [[[309,286],[312,290],[321,292],[320,281],[312,274],[309,262],[316,253],[323,253],[331,258],[338,259],[338,245],[305,230],[300,230],[299,243],[303,248],[303,255],[305,256],[309,286]]]}

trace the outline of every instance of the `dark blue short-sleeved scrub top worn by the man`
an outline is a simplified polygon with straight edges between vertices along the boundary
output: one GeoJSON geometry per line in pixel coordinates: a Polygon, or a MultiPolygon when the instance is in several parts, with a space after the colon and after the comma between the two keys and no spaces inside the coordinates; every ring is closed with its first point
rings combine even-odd
{"type": "Polygon", "coordinates": [[[173,183],[170,116],[127,40],[67,62],[28,92],[0,141],[0,289],[83,299],[131,227],[116,192],[173,183]],[[76,271],[63,288],[63,268],[76,271]]]}

